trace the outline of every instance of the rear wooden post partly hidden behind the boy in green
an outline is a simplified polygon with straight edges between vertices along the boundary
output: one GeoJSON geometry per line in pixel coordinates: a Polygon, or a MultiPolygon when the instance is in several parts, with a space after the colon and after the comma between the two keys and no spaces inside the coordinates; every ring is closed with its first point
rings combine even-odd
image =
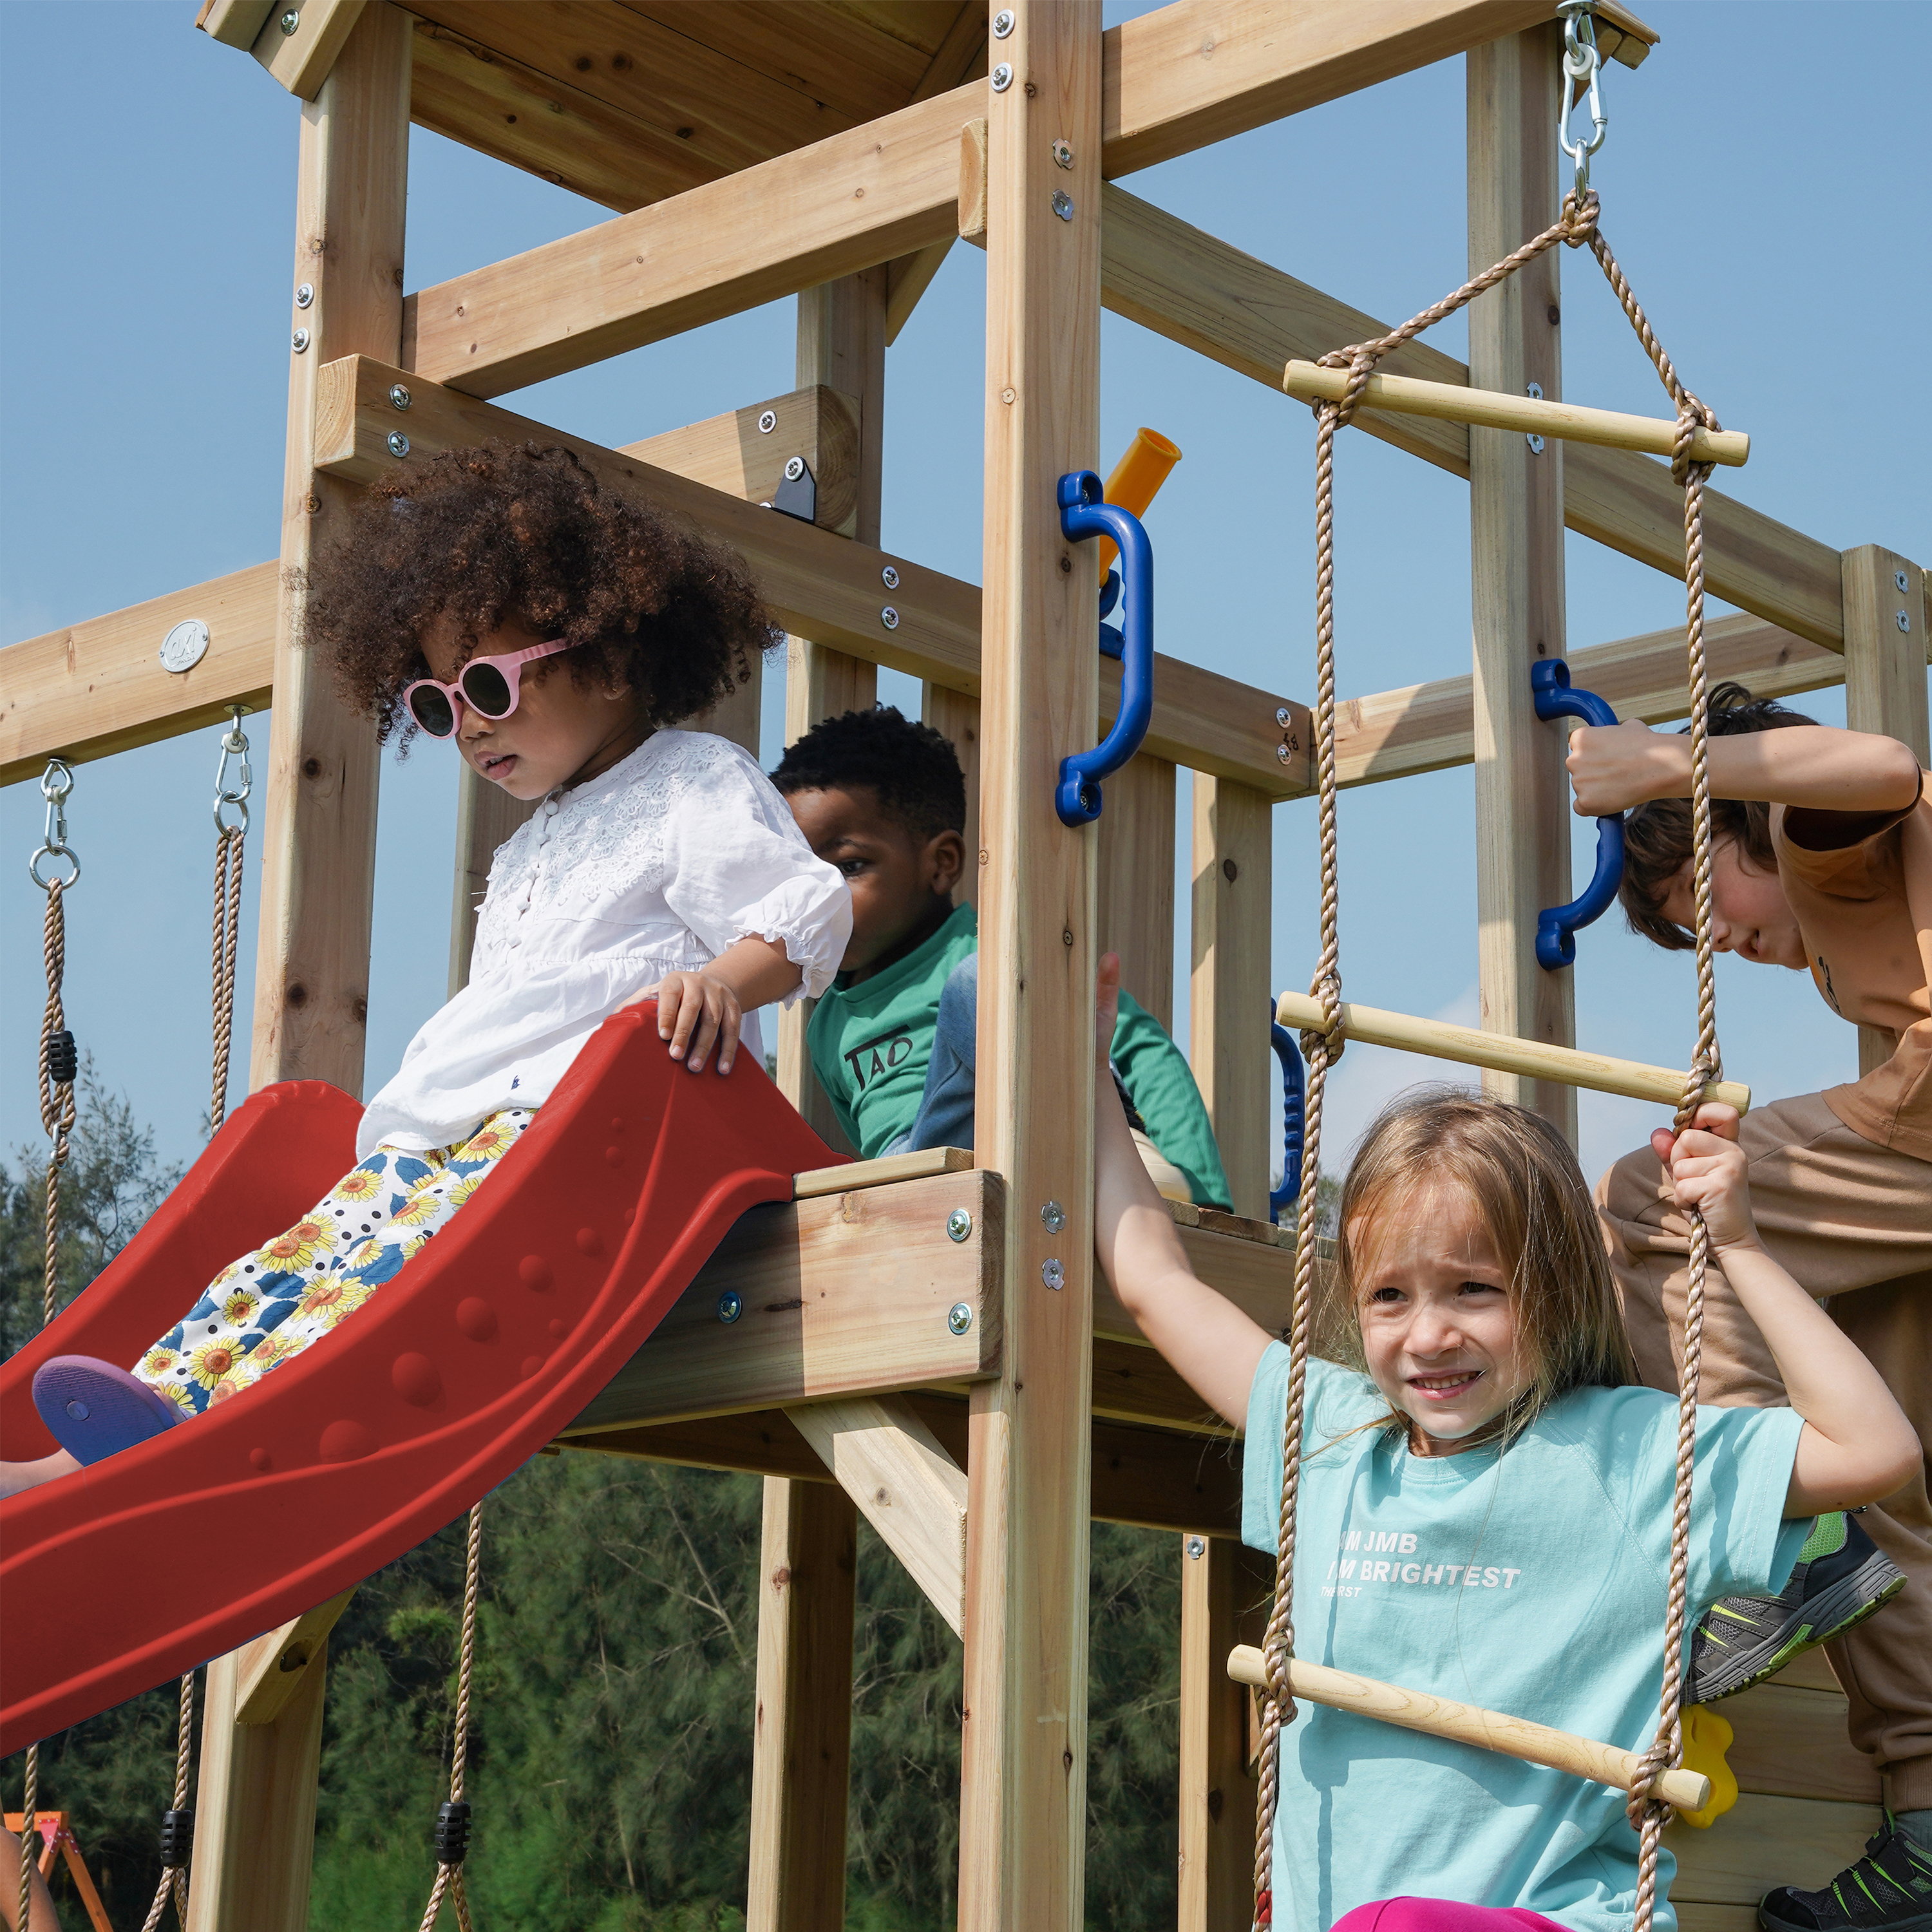
{"type": "MultiPolygon", "coordinates": [[[[879,541],[885,433],[885,267],[798,298],[798,384],[827,383],[860,404],[860,543],[879,541]]],[[[786,647],[784,738],[858,711],[879,667],[804,638],[786,647]]],[[[811,1126],[852,1151],[811,1076],[800,1001],[779,1022],[779,1086],[811,1126]]],[[[844,1490],[765,1478],[765,1561],[752,1735],[748,1932],[840,1932],[852,1762],[852,1569],[858,1513],[844,1490]],[[782,1580],[781,1580],[782,1578],[782,1580]]]]}

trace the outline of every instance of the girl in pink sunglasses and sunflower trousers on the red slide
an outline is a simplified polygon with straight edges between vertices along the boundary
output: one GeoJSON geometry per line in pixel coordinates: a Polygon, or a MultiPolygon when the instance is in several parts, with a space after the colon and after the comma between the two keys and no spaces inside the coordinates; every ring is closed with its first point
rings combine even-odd
{"type": "Polygon", "coordinates": [[[46,1362],[35,1401],[64,1447],[0,1464],[0,1493],[201,1414],[327,1335],[489,1179],[620,1007],[655,997],[670,1057],[728,1074],[763,1055],[757,1007],[831,983],[844,879],[746,752],[680,724],[773,639],[736,554],[599,491],[568,450],[446,452],[352,508],[313,570],[309,649],[381,738],[444,740],[541,804],[491,866],[469,983],[363,1111],[359,1165],[131,1370],[46,1362]]]}

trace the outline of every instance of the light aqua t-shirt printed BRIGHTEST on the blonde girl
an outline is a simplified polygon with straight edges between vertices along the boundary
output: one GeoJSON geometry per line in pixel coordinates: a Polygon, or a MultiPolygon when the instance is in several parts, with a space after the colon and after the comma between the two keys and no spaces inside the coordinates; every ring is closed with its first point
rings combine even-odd
{"type": "MultiPolygon", "coordinates": [[[[1248,1397],[1242,1540],[1273,1553],[1289,1350],[1248,1397]]],[[[1501,1455],[1414,1457],[1352,1370],[1308,1364],[1294,1648],[1314,1663],[1644,1750],[1658,1725],[1677,1397],[1578,1389],[1501,1455]],[[1343,1437],[1337,1441],[1337,1437],[1343,1437]],[[1331,1445],[1314,1453],[1320,1445],[1331,1445]]],[[[1785,1519],[1803,1418],[1700,1408],[1687,1634],[1721,1596],[1785,1586],[1812,1520],[1785,1519]]],[[[1625,1797],[1474,1745],[1302,1702],[1281,1739],[1275,1924],[1321,1932],[1397,1895],[1522,1907],[1629,1932],[1625,1797]]],[[[1658,1932],[1675,1918],[1662,1893],[1658,1932]]]]}

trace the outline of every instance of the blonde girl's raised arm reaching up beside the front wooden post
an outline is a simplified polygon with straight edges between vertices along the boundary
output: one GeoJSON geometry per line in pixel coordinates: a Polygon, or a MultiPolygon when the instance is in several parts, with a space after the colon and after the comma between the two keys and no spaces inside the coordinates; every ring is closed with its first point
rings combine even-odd
{"type": "Polygon", "coordinates": [[[1099,962],[1094,1082],[1094,1254],[1140,1325],[1196,1395],[1235,1428],[1248,1424],[1248,1389],[1267,1333],[1188,1267],[1167,1202],[1140,1163],[1107,1076],[1121,960],[1099,962]]]}

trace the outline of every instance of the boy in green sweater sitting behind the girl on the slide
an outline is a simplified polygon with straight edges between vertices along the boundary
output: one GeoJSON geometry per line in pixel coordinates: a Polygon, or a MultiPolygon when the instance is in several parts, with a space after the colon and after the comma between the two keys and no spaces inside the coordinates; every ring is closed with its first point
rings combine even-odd
{"type": "MultiPolygon", "coordinates": [[[[954,906],[966,779],[952,746],[891,707],[825,719],[771,775],[806,842],[852,887],[844,968],[806,1030],[811,1068],[866,1159],[970,1148],[980,931],[954,906]]],[[[1113,1074],[1155,1186],[1227,1208],[1194,1074],[1159,1020],[1121,995],[1113,1074]]]]}

